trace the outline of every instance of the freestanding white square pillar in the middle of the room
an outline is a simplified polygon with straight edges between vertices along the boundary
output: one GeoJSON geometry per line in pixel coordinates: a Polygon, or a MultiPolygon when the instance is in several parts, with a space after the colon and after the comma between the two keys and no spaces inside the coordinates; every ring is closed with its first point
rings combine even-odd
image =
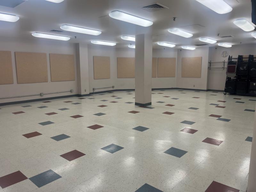
{"type": "Polygon", "coordinates": [[[135,43],[135,105],[151,105],[152,35],[136,35],[135,43]]]}

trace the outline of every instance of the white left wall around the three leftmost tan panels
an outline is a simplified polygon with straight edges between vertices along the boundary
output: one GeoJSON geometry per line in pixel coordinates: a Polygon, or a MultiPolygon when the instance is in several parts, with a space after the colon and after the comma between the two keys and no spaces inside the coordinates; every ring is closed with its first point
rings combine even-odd
{"type": "MultiPolygon", "coordinates": [[[[49,53],[76,55],[75,44],[69,44],[67,42],[56,42],[56,41],[53,42],[51,40],[49,41],[38,40],[36,42],[22,42],[22,41],[9,41],[9,40],[5,41],[4,39],[1,39],[0,50],[12,52],[12,69],[13,69],[13,80],[14,80],[13,84],[0,85],[0,97],[31,95],[31,94],[39,94],[41,92],[43,93],[61,92],[61,91],[68,91],[71,89],[74,90],[73,93],[66,92],[66,93],[58,93],[58,94],[49,94],[44,96],[29,96],[29,97],[12,98],[12,99],[1,99],[0,103],[77,94],[77,76],[75,81],[51,82],[50,59],[49,59],[49,53]],[[48,82],[17,84],[14,52],[47,53],[48,82]]],[[[75,56],[75,60],[76,60],[76,56],[75,56]]],[[[75,72],[76,72],[76,68],[75,68],[75,72]]]]}

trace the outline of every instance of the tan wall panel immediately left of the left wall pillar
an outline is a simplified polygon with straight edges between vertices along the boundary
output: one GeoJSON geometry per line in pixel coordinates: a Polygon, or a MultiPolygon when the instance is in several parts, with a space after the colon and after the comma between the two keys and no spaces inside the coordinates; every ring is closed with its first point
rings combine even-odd
{"type": "Polygon", "coordinates": [[[51,81],[75,81],[74,55],[50,53],[51,81]]]}

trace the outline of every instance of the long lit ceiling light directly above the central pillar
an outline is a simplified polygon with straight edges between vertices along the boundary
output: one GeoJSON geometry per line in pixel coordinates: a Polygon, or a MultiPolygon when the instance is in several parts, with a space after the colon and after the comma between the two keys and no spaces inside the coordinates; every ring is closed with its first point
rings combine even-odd
{"type": "Polygon", "coordinates": [[[113,12],[109,13],[108,15],[109,15],[109,17],[112,17],[114,19],[125,21],[128,23],[133,23],[135,25],[140,25],[143,27],[148,27],[148,26],[153,25],[152,21],[141,19],[139,17],[135,17],[133,15],[129,15],[127,13],[123,13],[120,11],[113,11],[113,12]]]}

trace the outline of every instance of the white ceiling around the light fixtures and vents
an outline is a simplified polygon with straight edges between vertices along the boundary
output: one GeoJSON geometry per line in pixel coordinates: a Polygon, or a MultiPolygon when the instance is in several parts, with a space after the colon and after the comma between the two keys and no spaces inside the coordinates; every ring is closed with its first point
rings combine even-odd
{"type": "Polygon", "coordinates": [[[204,44],[198,40],[199,37],[208,37],[217,40],[217,43],[224,42],[232,45],[240,44],[240,42],[242,44],[256,43],[256,39],[251,36],[254,31],[245,32],[233,24],[235,19],[240,18],[251,22],[251,0],[225,0],[225,2],[233,8],[232,12],[218,14],[196,0],[64,0],[62,3],[28,0],[15,8],[0,6],[0,12],[20,17],[20,20],[15,23],[0,21],[0,38],[58,41],[38,40],[31,33],[51,33],[49,31],[52,29],[61,30],[61,25],[69,24],[102,31],[99,36],[74,32],[61,33],[62,36],[71,37],[69,43],[90,44],[91,40],[102,40],[115,42],[116,47],[127,47],[128,44],[134,44],[134,42],[122,40],[120,36],[135,36],[141,33],[153,34],[154,48],[161,47],[156,44],[158,41],[176,44],[175,48],[178,49],[182,45],[204,44]],[[142,6],[156,2],[169,9],[156,12],[141,9],[142,6]],[[140,27],[115,20],[108,16],[108,13],[114,10],[151,20],[154,24],[150,27],[140,27]],[[173,17],[177,17],[176,21],[173,21],[173,17]],[[184,38],[167,31],[168,28],[174,27],[193,33],[194,36],[184,38]],[[220,38],[217,34],[234,37],[220,38]],[[77,38],[75,39],[74,36],[77,38]]]}

